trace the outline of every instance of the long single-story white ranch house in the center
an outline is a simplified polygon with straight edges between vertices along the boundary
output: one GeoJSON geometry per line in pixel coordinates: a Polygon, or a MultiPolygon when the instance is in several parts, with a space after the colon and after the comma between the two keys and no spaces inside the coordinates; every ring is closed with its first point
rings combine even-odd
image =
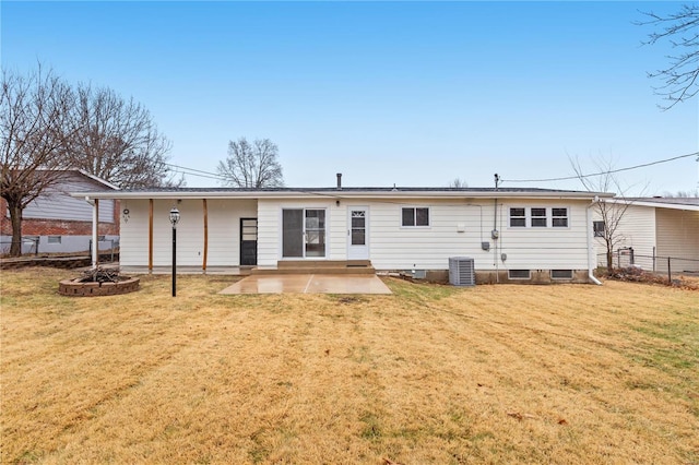
{"type": "MultiPolygon", "coordinates": [[[[340,179],[340,178],[339,178],[340,179]]],[[[596,264],[591,206],[612,194],[545,189],[149,189],[73,192],[121,203],[121,266],[275,269],[370,261],[379,271],[447,275],[474,260],[476,281],[588,282],[596,264]]]]}

